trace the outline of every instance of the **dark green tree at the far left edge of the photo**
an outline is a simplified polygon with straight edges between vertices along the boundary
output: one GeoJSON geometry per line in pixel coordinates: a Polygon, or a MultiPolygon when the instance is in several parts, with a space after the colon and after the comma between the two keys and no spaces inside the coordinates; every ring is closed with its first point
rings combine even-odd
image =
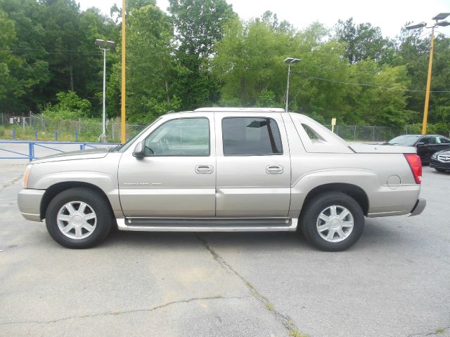
{"type": "Polygon", "coordinates": [[[44,103],[41,92],[50,76],[43,60],[39,5],[31,0],[1,0],[0,13],[0,107],[4,112],[20,113],[44,103]]]}

